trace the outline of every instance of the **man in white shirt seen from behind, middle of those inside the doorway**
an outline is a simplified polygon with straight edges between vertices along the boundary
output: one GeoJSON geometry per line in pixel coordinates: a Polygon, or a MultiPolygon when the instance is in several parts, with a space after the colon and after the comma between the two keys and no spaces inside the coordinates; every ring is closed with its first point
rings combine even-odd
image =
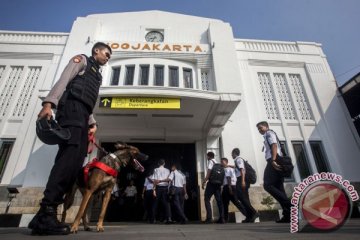
{"type": "Polygon", "coordinates": [[[156,186],[156,200],[154,203],[155,213],[157,212],[159,202],[165,208],[165,223],[171,223],[171,210],[168,198],[168,178],[170,175],[169,169],[165,168],[165,160],[159,160],[159,167],[154,170],[154,178],[152,179],[156,186]]]}

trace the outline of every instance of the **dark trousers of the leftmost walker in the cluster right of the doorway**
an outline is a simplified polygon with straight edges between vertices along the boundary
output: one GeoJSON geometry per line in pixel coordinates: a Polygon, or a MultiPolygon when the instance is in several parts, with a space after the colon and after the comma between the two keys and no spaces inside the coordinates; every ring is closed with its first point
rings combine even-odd
{"type": "Polygon", "coordinates": [[[221,199],[221,185],[215,185],[210,182],[206,184],[205,188],[205,208],[206,208],[206,220],[212,220],[212,211],[210,199],[212,196],[215,196],[216,203],[219,209],[219,218],[224,219],[224,206],[221,199]]]}

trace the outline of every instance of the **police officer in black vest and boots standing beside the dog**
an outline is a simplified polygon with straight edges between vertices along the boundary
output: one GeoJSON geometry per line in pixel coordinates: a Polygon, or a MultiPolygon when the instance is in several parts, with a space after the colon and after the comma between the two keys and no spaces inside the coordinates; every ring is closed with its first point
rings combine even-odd
{"type": "Polygon", "coordinates": [[[96,43],[91,57],[73,57],[62,72],[59,81],[42,103],[39,118],[50,119],[52,109],[57,109],[56,120],[68,128],[71,138],[59,144],[54,166],[50,172],[40,203],[40,210],[29,223],[33,234],[65,235],[70,227],[57,220],[57,206],[74,184],[87,153],[88,131],[94,134],[97,127],[92,111],[102,81],[100,66],[105,65],[112,54],[105,43],[96,43]]]}

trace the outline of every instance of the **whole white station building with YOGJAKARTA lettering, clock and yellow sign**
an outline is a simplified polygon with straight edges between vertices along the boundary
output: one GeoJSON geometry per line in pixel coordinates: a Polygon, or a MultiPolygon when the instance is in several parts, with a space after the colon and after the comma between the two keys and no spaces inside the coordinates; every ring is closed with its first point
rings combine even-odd
{"type": "Polygon", "coordinates": [[[230,159],[240,148],[258,173],[251,200],[263,207],[263,120],[295,164],[288,186],[321,171],[360,182],[360,141],[320,44],[234,39],[221,20],[161,11],[96,14],[70,33],[0,31],[0,213],[9,186],[20,193],[8,212],[38,208],[57,150],[36,137],[41,98],[97,41],[113,49],[94,110],[98,142],[180,162],[193,219],[205,217],[199,186],[210,150],[230,159]]]}

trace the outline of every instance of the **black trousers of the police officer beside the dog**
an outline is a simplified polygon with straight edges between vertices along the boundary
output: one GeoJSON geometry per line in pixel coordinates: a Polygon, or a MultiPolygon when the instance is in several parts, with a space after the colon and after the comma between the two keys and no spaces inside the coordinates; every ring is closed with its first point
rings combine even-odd
{"type": "Polygon", "coordinates": [[[77,100],[67,100],[58,107],[56,119],[71,132],[71,139],[59,145],[54,166],[51,169],[41,205],[57,206],[63,203],[82,169],[87,154],[89,112],[77,100]]]}

